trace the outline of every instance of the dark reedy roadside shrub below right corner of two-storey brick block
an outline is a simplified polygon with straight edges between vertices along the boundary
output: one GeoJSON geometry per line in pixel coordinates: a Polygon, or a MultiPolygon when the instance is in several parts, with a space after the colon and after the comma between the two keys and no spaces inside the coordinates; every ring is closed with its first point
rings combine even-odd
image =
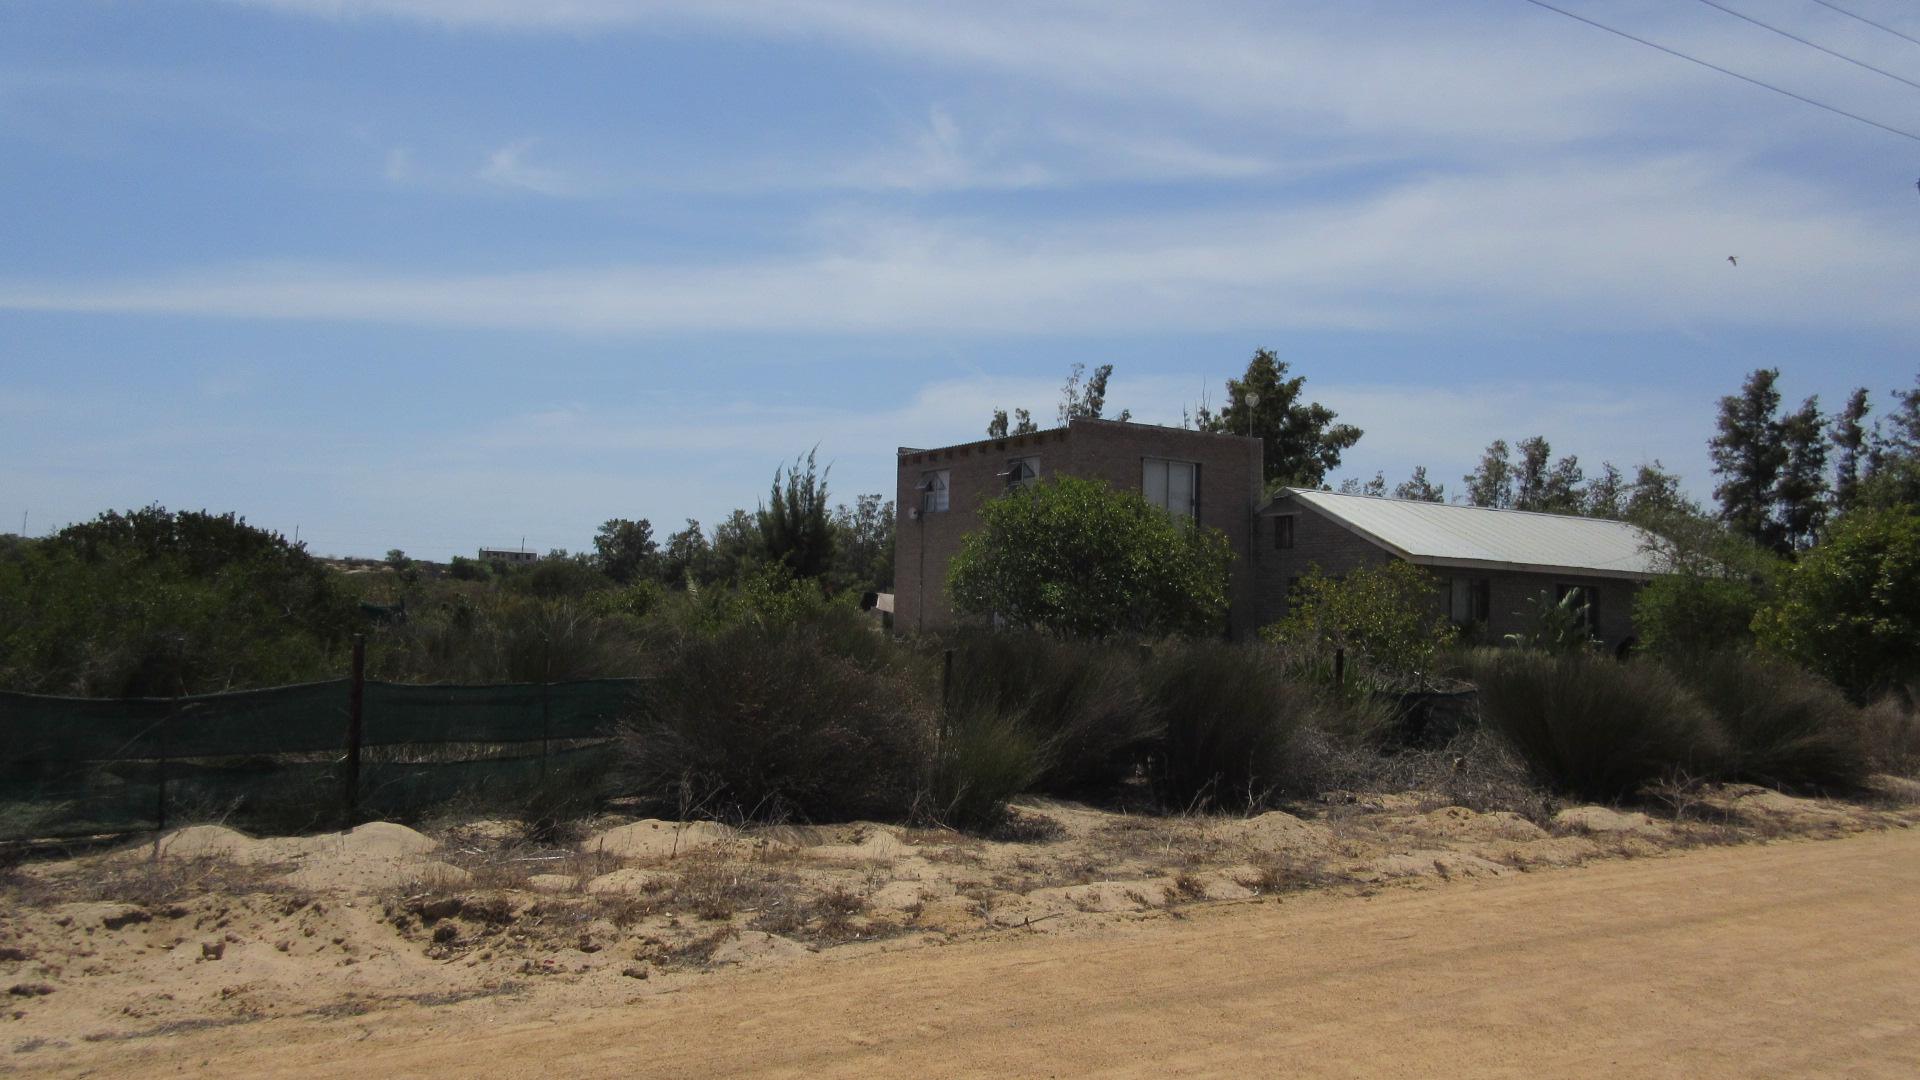
{"type": "Polygon", "coordinates": [[[1319,703],[1260,646],[1164,648],[1146,671],[1160,726],[1154,782],[1175,809],[1252,809],[1294,778],[1294,736],[1319,703]]]}

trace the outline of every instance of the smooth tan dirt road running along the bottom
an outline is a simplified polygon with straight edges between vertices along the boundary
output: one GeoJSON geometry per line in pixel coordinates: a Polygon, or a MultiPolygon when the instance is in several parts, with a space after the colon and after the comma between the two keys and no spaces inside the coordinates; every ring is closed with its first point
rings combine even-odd
{"type": "MultiPolygon", "coordinates": [[[[246,1076],[1920,1076],[1920,830],[1188,909],[12,1065],[246,1076]]],[[[4,1070],[4,1068],[0,1068],[4,1070]]]]}

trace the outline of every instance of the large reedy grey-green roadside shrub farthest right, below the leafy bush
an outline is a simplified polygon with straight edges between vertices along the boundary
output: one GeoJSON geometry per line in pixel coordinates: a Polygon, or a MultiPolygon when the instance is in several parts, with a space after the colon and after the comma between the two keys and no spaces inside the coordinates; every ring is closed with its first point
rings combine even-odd
{"type": "Polygon", "coordinates": [[[1697,655],[1678,675],[1724,736],[1715,774],[1776,788],[1855,788],[1866,778],[1866,726],[1816,675],[1740,651],[1697,655]]]}

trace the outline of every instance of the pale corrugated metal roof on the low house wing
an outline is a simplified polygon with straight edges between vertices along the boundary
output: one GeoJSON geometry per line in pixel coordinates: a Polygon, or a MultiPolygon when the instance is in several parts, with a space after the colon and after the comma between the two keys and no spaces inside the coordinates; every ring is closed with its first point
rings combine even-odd
{"type": "Polygon", "coordinates": [[[1286,488],[1306,503],[1411,563],[1459,569],[1578,571],[1644,578],[1659,573],[1649,534],[1624,521],[1486,509],[1436,502],[1286,488]]]}

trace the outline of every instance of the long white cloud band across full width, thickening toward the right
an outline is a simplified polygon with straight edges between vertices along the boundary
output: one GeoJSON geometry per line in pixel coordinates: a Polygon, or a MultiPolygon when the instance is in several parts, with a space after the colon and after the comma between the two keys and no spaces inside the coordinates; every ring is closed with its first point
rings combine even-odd
{"type": "Polygon", "coordinates": [[[1701,156],[1436,175],[1284,209],[1046,225],[826,217],[797,256],[413,275],[259,265],[0,282],[0,307],[572,332],[1891,327],[1912,250],[1701,156]],[[1726,263],[1740,254],[1740,265],[1726,263]]]}

